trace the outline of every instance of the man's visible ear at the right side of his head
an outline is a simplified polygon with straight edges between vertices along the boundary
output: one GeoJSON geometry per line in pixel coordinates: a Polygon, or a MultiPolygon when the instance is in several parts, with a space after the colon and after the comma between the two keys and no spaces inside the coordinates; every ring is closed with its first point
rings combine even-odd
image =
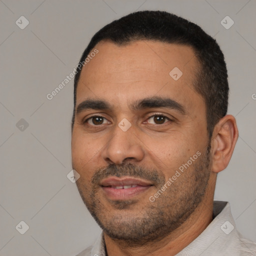
{"type": "Polygon", "coordinates": [[[211,138],[212,171],[226,168],[238,138],[238,129],[234,116],[228,114],[215,125],[211,138]]]}

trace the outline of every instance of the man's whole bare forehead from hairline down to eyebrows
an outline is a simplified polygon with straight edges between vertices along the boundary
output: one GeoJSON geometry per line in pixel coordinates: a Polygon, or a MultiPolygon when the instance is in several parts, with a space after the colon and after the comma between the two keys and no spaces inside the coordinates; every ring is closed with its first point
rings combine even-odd
{"type": "Polygon", "coordinates": [[[192,83],[198,63],[190,46],[139,40],[120,46],[101,41],[95,48],[98,53],[80,74],[77,104],[86,97],[107,97],[112,102],[119,98],[120,102],[171,94],[184,101],[187,93],[197,94],[192,83]]]}

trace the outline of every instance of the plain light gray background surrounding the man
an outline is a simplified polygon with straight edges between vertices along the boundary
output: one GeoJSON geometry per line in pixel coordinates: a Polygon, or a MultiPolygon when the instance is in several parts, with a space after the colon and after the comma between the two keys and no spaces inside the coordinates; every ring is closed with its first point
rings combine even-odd
{"type": "Polygon", "coordinates": [[[215,199],[229,201],[238,230],[256,240],[255,0],[0,0],[0,255],[75,255],[99,234],[66,177],[73,80],[51,100],[46,94],[73,70],[94,32],[144,9],[197,23],[224,52],[239,138],[215,199]],[[15,24],[21,15],[24,29],[15,24]],[[220,23],[226,15],[229,29],[220,23]],[[16,126],[21,118],[28,127],[16,126]],[[24,234],[15,229],[21,220],[24,234]]]}

